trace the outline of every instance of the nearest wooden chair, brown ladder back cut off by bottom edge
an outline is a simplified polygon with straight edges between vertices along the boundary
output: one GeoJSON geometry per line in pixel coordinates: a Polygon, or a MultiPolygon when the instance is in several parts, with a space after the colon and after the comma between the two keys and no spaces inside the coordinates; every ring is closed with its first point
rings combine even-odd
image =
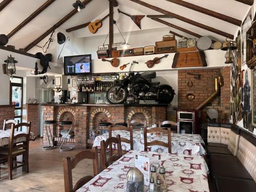
{"type": "Polygon", "coordinates": [[[97,147],[93,147],[92,151],[86,150],[76,154],[72,160],[70,157],[63,159],[63,172],[64,172],[64,183],[65,183],[65,192],[73,192],[78,188],[86,184],[93,177],[99,174],[99,157],[97,147]],[[74,188],[72,181],[72,169],[83,159],[92,159],[93,160],[93,176],[84,176],[79,179],[74,188]]]}

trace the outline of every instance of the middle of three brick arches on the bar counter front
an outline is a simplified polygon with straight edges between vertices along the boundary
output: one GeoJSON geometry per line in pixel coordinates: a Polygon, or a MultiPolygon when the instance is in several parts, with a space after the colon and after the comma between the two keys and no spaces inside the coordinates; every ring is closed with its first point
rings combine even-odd
{"type": "Polygon", "coordinates": [[[111,114],[108,110],[104,108],[97,108],[95,109],[90,116],[90,130],[94,128],[94,126],[98,123],[95,122],[95,120],[99,117],[99,119],[103,118],[104,120],[110,120],[111,119],[111,114]]]}

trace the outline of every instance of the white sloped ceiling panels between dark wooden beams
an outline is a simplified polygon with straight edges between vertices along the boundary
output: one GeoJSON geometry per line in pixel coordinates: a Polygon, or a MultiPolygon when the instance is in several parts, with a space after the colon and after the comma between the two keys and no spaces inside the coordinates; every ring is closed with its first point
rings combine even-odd
{"type": "MultiPolygon", "coordinates": [[[[3,0],[0,0],[0,2],[2,1],[3,0]]],[[[139,14],[142,13],[145,15],[161,14],[157,11],[154,11],[152,9],[149,9],[144,6],[138,5],[134,2],[131,2],[130,0],[117,0],[117,1],[119,3],[119,8],[122,11],[128,12],[132,10],[132,13],[130,14],[136,14],[136,11],[139,14]]],[[[185,7],[170,3],[165,0],[158,0],[158,1],[142,0],[142,1],[230,34],[236,33],[238,29],[238,26],[229,24],[227,22],[224,22],[223,20],[205,15],[203,13],[196,12],[194,10],[187,9],[185,7]]],[[[249,6],[233,0],[225,0],[225,1],[223,0],[210,0],[210,1],[184,0],[184,1],[210,9],[212,11],[216,11],[216,12],[240,19],[240,20],[243,19],[244,15],[247,13],[249,9],[249,6]]],[[[0,33],[8,34],[12,29],[14,29],[21,22],[23,22],[23,20],[25,20],[30,14],[32,14],[37,8],[39,8],[45,2],[46,0],[36,0],[36,1],[35,0],[26,0],[26,1],[13,0],[5,9],[3,9],[0,12],[0,26],[2,26],[0,33]]],[[[56,0],[45,11],[40,13],[29,24],[27,24],[24,28],[22,28],[14,36],[12,36],[9,39],[8,45],[14,45],[17,49],[25,48],[33,40],[35,40],[41,34],[45,33],[49,28],[51,28],[54,24],[56,24],[61,18],[63,18],[70,11],[72,11],[73,10],[72,4],[74,2],[75,0],[56,0]]],[[[103,12],[108,11],[108,7],[109,7],[108,2],[109,2],[108,0],[93,0],[91,3],[89,3],[86,6],[85,9],[81,10],[81,12],[71,17],[65,24],[61,26],[61,28],[68,29],[68,28],[94,20],[103,12]]],[[[118,17],[118,14],[117,14],[117,17],[118,17]]],[[[120,28],[125,31],[124,29],[125,27],[129,28],[129,26],[127,26],[127,23],[125,22],[125,19],[130,19],[130,18],[123,15],[122,15],[122,18],[123,19],[122,19],[122,23],[120,24],[120,28]]],[[[118,18],[115,18],[115,19],[118,19],[118,18]]],[[[163,24],[159,24],[149,18],[144,20],[145,20],[144,27],[143,27],[143,20],[141,21],[143,30],[166,27],[163,24]],[[150,20],[150,23],[148,22],[148,20],[150,20]]],[[[225,37],[221,35],[184,23],[175,18],[168,18],[168,19],[163,18],[163,20],[166,20],[166,22],[169,22],[179,27],[193,31],[200,35],[207,35],[217,40],[222,40],[222,41],[225,40],[225,37]]],[[[105,22],[108,22],[108,21],[105,21],[105,22]]],[[[138,28],[136,30],[139,31],[138,28]]],[[[172,28],[170,28],[170,30],[173,30],[180,34],[184,34],[183,32],[179,32],[178,30],[175,30],[172,28]]],[[[78,30],[72,33],[78,37],[92,36],[92,34],[87,33],[84,30],[78,30]]],[[[104,30],[101,33],[93,34],[93,36],[103,35],[103,34],[108,34],[108,29],[104,30]]]]}

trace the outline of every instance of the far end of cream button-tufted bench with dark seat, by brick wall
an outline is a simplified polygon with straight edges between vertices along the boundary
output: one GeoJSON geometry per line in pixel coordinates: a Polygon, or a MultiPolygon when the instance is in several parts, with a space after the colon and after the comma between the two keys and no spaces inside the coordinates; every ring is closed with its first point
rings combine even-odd
{"type": "Polygon", "coordinates": [[[237,155],[238,143],[240,137],[239,127],[231,124],[221,124],[220,142],[226,146],[209,146],[207,147],[208,154],[223,154],[223,155],[237,155]]]}

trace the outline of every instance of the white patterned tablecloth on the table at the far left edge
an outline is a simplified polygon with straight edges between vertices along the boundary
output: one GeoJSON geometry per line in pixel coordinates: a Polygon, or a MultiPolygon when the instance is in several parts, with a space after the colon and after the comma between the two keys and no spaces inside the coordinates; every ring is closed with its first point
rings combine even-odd
{"type": "MultiPolygon", "coordinates": [[[[8,145],[10,142],[10,132],[11,130],[0,130],[0,146],[8,145]]],[[[22,134],[26,132],[14,131],[14,136],[18,134],[22,134]]],[[[36,138],[35,134],[30,132],[30,140],[34,140],[36,138]]],[[[25,137],[18,138],[15,142],[26,141],[25,137]]]]}

